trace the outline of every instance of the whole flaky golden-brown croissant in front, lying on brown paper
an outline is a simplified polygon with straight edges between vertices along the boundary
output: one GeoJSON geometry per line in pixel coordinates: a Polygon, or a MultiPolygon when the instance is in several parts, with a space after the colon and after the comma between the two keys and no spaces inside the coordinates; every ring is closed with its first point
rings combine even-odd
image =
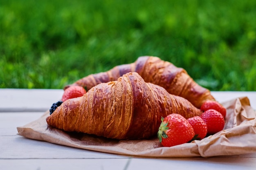
{"type": "Polygon", "coordinates": [[[161,117],[171,113],[185,118],[201,115],[188,100],[146,83],[134,72],[98,84],[82,97],[66,100],[46,121],[65,131],[112,139],[145,139],[156,135],[161,117]]]}

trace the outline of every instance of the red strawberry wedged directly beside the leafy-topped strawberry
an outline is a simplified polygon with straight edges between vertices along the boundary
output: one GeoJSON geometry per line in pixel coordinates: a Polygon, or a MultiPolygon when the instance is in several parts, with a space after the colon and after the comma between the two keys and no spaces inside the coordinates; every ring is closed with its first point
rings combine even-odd
{"type": "Polygon", "coordinates": [[[195,116],[187,119],[194,129],[194,139],[201,140],[207,135],[207,124],[200,116],[195,116]]]}

